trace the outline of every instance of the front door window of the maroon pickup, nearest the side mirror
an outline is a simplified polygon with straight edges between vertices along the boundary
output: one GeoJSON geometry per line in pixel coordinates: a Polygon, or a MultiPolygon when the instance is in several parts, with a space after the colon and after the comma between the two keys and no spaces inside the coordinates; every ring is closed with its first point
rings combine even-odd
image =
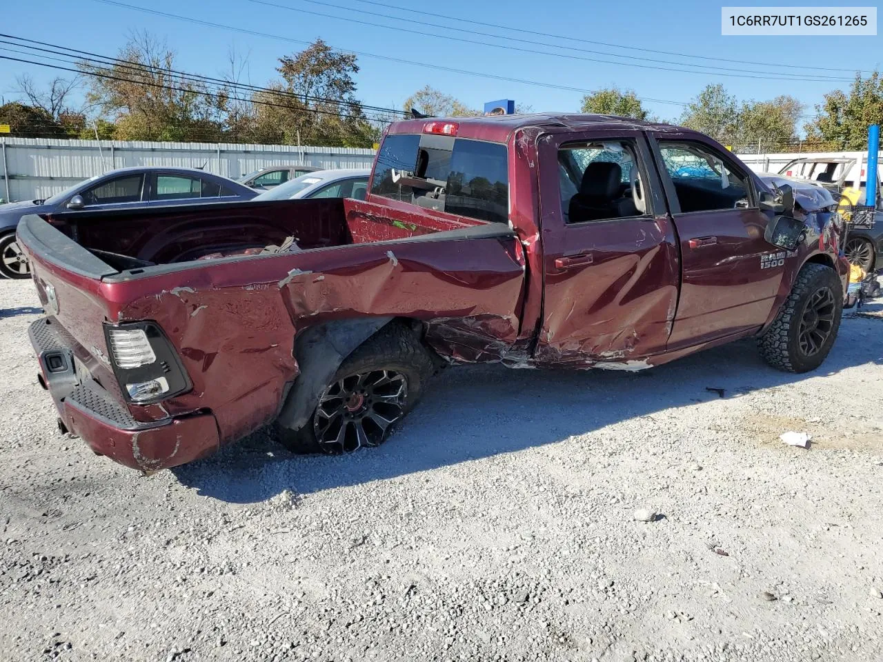
{"type": "Polygon", "coordinates": [[[682,214],[749,207],[747,177],[711,147],[660,140],[660,154],[682,214]]]}

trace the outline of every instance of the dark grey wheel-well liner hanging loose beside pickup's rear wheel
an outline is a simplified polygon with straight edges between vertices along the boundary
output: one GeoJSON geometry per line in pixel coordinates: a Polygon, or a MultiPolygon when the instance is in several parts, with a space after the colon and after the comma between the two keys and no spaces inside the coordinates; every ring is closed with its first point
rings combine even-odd
{"type": "Polygon", "coordinates": [[[337,372],[343,359],[389,324],[391,317],[329,322],[307,329],[294,342],[294,357],[300,372],[285,398],[277,420],[279,425],[299,430],[319,403],[322,389],[337,372]]]}

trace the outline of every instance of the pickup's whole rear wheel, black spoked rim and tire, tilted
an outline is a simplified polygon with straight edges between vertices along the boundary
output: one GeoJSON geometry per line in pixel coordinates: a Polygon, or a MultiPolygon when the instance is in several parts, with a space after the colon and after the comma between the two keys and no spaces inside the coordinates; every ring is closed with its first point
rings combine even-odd
{"type": "Polygon", "coordinates": [[[339,455],[380,446],[418,402],[433,362],[411,329],[390,324],[353,351],[299,430],[275,426],[295,453],[339,455]]]}

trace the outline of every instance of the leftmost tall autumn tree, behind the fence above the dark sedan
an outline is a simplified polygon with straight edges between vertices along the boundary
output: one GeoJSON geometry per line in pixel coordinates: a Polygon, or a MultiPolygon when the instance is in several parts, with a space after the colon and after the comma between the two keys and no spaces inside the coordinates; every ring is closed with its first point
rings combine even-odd
{"type": "Polygon", "coordinates": [[[175,53],[147,33],[133,34],[113,65],[80,62],[87,102],[111,118],[118,139],[215,140],[225,98],[175,72],[175,53]]]}

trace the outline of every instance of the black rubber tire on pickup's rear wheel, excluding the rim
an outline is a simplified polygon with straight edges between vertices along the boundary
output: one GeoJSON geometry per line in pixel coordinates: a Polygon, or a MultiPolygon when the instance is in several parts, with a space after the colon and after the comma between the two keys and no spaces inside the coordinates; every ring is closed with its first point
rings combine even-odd
{"type": "MultiPolygon", "coordinates": [[[[435,366],[426,348],[417,335],[404,324],[391,322],[353,350],[337,369],[328,386],[352,374],[379,370],[395,371],[404,375],[407,395],[404,404],[404,418],[419,402],[426,387],[426,380],[435,372],[435,366]]],[[[329,453],[316,439],[313,425],[316,410],[299,430],[291,430],[282,425],[274,425],[275,439],[292,453],[329,453]]],[[[390,431],[401,423],[399,418],[390,431]]],[[[383,440],[389,436],[384,433],[383,440]]]]}

